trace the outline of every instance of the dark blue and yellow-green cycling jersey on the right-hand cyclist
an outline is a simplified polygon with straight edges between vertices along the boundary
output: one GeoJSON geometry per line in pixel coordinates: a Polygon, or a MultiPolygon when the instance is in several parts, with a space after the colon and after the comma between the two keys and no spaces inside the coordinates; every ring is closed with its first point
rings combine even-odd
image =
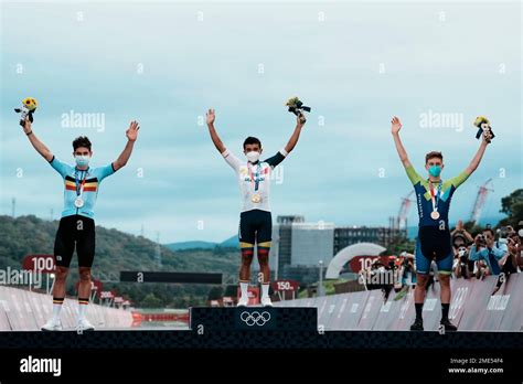
{"type": "Polygon", "coordinates": [[[439,213],[439,217],[435,220],[430,217],[430,213],[433,212],[433,199],[428,180],[423,179],[414,170],[413,166],[405,168],[405,170],[407,172],[408,179],[410,179],[410,182],[414,185],[414,191],[416,192],[419,226],[439,226],[442,221],[445,223],[445,227],[448,228],[448,215],[452,194],[456,189],[469,178],[470,174],[467,173],[467,171],[463,171],[452,179],[449,179],[445,182],[440,181],[439,184],[433,183],[433,193],[435,194],[435,200],[438,201],[437,207],[439,213]]]}

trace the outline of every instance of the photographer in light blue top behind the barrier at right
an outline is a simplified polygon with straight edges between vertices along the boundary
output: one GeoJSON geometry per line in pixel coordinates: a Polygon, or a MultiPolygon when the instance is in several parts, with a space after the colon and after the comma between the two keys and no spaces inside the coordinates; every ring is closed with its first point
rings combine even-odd
{"type": "Polygon", "coordinates": [[[477,262],[478,274],[477,277],[488,275],[500,275],[500,260],[505,256],[506,252],[500,249],[494,244],[494,231],[492,228],[483,230],[474,238],[474,244],[470,247],[470,260],[477,262]]]}

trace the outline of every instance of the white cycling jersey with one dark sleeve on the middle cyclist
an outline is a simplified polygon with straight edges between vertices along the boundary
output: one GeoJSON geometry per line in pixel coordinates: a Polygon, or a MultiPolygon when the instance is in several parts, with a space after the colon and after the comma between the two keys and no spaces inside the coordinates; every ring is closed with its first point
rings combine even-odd
{"type": "Polygon", "coordinates": [[[241,161],[230,150],[225,150],[222,156],[227,164],[236,172],[239,193],[242,195],[242,211],[262,210],[270,212],[270,172],[287,156],[285,149],[279,150],[275,156],[264,161],[249,163],[241,161]]]}

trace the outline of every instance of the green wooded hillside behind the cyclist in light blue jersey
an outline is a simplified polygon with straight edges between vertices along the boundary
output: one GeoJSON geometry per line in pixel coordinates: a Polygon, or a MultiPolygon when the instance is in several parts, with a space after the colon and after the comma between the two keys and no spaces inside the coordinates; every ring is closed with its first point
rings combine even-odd
{"type": "MultiPolygon", "coordinates": [[[[22,258],[29,254],[52,254],[57,221],[44,221],[36,216],[11,217],[0,215],[0,268],[21,268],[22,258]]],[[[161,247],[162,266],[157,266],[157,244],[141,236],[134,236],[96,226],[96,257],[94,278],[104,280],[118,277],[120,270],[161,270],[237,274],[239,256],[236,248],[184,249],[172,252],[161,247]]],[[[76,256],[71,265],[67,294],[75,295],[77,280],[76,256]]],[[[104,289],[115,289],[134,301],[136,307],[184,308],[203,305],[213,286],[104,282],[104,289]]],[[[216,288],[216,287],[214,287],[216,288]]]]}

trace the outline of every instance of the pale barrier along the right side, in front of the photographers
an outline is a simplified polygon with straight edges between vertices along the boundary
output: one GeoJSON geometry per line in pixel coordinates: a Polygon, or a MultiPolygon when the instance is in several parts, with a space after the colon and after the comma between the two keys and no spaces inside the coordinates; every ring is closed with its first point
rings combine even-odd
{"type": "MultiPolygon", "coordinates": [[[[511,275],[495,295],[497,276],[483,280],[452,279],[449,318],[460,331],[523,330],[523,274],[511,275]]],[[[325,330],[405,331],[415,318],[414,289],[384,302],[381,290],[367,290],[324,297],[279,301],[277,307],[317,307],[318,326],[325,330]]],[[[425,330],[438,330],[441,318],[439,284],[425,298],[425,330]]]]}

